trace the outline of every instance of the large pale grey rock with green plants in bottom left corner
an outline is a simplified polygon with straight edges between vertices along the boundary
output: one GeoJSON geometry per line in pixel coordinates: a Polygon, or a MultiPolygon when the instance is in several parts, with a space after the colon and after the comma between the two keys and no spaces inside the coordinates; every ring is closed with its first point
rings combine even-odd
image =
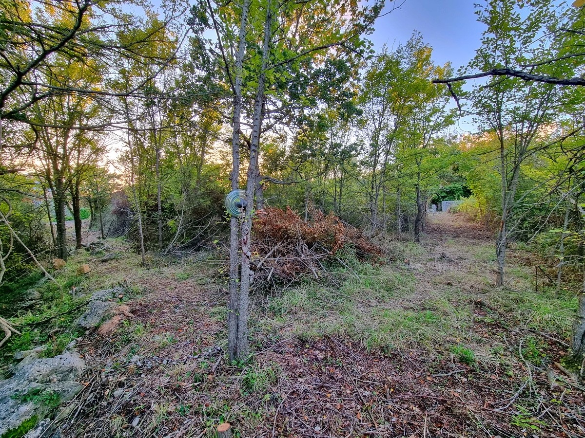
{"type": "MultiPolygon", "coordinates": [[[[78,354],[27,360],[33,356],[29,354],[18,364],[14,376],[0,381],[0,436],[31,419],[44,418],[56,404],[70,400],[83,388],[75,381],[85,368],[85,361],[78,354]]],[[[40,436],[35,434],[37,430],[44,433],[42,428],[33,429],[27,436],[40,436]]]]}

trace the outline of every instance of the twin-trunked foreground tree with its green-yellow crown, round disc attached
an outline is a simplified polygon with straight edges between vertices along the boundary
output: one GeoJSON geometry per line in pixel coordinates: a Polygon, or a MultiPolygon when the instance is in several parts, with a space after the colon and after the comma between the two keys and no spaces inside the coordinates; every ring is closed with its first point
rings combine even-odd
{"type": "MultiPolygon", "coordinates": [[[[369,30],[381,9],[380,4],[359,8],[347,2],[282,2],[266,0],[242,6],[199,5],[192,15],[199,21],[212,23],[222,68],[233,96],[232,116],[232,187],[238,187],[240,123],[243,107],[250,108],[249,161],[247,168],[247,207],[240,227],[230,223],[230,279],[228,304],[228,352],[230,360],[245,360],[249,352],[247,321],[249,318],[250,242],[254,193],[259,183],[258,156],[260,137],[267,114],[276,114],[284,107],[270,108],[269,99],[284,104],[285,84],[296,75],[322,62],[334,51],[345,56],[363,54],[360,34],[369,30]],[[206,11],[205,14],[203,11],[206,11]],[[204,17],[208,17],[205,18],[204,17]],[[349,17],[349,18],[348,18],[349,17]],[[220,23],[221,21],[221,23],[220,23]],[[317,32],[315,32],[318,29],[317,32]],[[333,49],[335,48],[335,49],[333,49]],[[228,53],[235,54],[233,60],[228,53]],[[247,55],[247,57],[246,57],[247,55]],[[243,99],[249,104],[242,105],[243,99]],[[240,232],[238,232],[240,231],[240,232]],[[238,242],[238,234],[239,242],[238,242]],[[242,245],[241,269],[239,246],[242,245]],[[239,289],[239,290],[238,290],[239,289]]],[[[215,53],[215,50],[213,50],[215,53]]],[[[308,86],[308,84],[307,84],[308,86]]]]}

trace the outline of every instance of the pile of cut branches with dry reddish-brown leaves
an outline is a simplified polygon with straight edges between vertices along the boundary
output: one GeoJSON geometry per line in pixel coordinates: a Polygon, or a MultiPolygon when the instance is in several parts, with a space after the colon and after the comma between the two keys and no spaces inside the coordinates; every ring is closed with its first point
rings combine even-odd
{"type": "Polygon", "coordinates": [[[348,267],[342,250],[358,260],[382,255],[360,230],[321,211],[304,221],[290,208],[266,207],[258,212],[253,232],[254,288],[290,284],[306,274],[321,279],[332,265],[348,267]]]}

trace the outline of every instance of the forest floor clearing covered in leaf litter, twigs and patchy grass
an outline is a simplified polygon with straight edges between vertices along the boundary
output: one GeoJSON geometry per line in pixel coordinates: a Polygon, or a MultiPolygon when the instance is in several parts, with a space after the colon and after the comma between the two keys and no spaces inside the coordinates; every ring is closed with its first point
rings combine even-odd
{"type": "Polygon", "coordinates": [[[535,291],[538,260],[517,248],[493,287],[492,234],[461,217],[432,214],[385,263],[255,295],[247,364],[225,359],[217,255],[143,267],[108,244],[115,260],[83,251],[60,275],[88,263],[81,287],[130,285],[133,316],[78,343],[88,372],[64,437],[214,437],[222,422],[245,438],[585,436],[585,388],[555,364],[574,291],[535,291]]]}

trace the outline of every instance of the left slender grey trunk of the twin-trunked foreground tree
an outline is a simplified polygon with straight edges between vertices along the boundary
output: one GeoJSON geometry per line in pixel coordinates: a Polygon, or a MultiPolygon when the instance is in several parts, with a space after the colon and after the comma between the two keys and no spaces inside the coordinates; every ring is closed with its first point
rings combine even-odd
{"type": "MultiPolygon", "coordinates": [[[[208,4],[211,9],[211,4],[208,4]]],[[[233,119],[232,119],[232,190],[238,189],[240,175],[240,117],[242,113],[242,66],[246,55],[246,26],[250,0],[244,0],[242,5],[242,17],[240,19],[240,33],[238,51],[235,60],[235,77],[233,90],[233,119]]],[[[229,66],[226,65],[226,69],[229,66]]],[[[250,204],[252,204],[250,200],[250,204]]],[[[241,357],[238,351],[238,320],[239,320],[239,221],[236,217],[230,218],[229,234],[229,280],[228,280],[228,356],[233,361],[241,357]]]]}

